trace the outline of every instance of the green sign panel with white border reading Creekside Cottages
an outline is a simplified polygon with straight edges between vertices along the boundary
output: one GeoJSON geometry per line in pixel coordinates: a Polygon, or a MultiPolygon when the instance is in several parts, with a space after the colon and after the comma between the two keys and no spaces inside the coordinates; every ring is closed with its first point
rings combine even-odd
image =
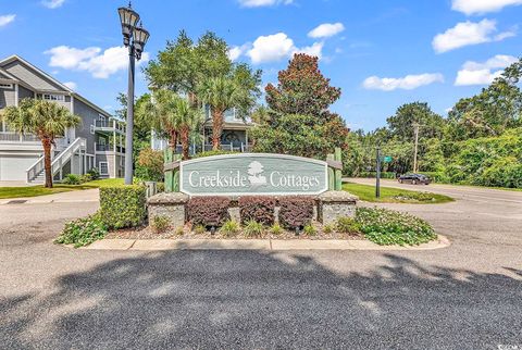
{"type": "Polygon", "coordinates": [[[327,188],[326,162],[301,157],[240,153],[179,164],[179,190],[191,196],[319,195],[327,188]]]}

